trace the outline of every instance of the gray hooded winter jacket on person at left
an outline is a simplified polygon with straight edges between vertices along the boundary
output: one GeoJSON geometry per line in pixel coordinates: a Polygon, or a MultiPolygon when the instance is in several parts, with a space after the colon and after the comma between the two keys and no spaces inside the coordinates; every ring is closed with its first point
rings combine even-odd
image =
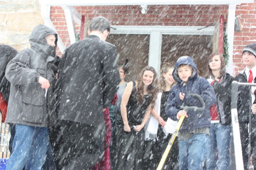
{"type": "Polygon", "coordinates": [[[55,81],[54,72],[49,64],[55,60],[56,47],[46,41],[47,35],[57,34],[44,25],[38,25],[29,38],[30,49],[24,49],[6,67],[6,78],[11,83],[7,123],[47,127],[49,123],[48,101],[52,98],[55,81]],[[50,88],[41,88],[39,76],[49,80],[50,88]]]}

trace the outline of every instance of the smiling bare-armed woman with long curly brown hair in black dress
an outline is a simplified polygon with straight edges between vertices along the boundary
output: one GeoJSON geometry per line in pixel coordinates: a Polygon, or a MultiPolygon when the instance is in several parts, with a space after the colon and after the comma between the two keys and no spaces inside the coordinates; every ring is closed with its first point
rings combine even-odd
{"type": "Polygon", "coordinates": [[[146,66],[138,81],[129,82],[121,101],[122,122],[117,122],[115,169],[140,170],[143,158],[144,130],[158,92],[157,73],[146,66]]]}

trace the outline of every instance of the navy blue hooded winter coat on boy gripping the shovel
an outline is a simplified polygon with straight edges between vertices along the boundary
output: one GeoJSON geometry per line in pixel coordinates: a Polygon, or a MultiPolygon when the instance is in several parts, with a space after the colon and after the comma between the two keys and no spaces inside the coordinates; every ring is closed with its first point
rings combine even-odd
{"type": "Polygon", "coordinates": [[[196,106],[202,107],[200,101],[197,98],[190,96],[189,94],[200,95],[206,105],[204,111],[188,111],[188,118],[185,118],[182,126],[180,127],[180,132],[189,132],[198,128],[209,127],[210,126],[210,112],[209,107],[215,104],[216,95],[209,84],[209,82],[201,77],[198,77],[198,70],[194,61],[188,57],[180,57],[175,63],[175,69],[173,70],[173,78],[177,81],[177,84],[172,87],[169,92],[169,98],[167,101],[166,113],[172,120],[177,120],[177,113],[181,110],[180,106],[184,103],[184,106],[196,106]],[[190,65],[193,68],[192,76],[189,77],[187,84],[185,84],[179,78],[177,74],[177,68],[180,65],[190,65]],[[185,93],[185,97],[180,100],[179,93],[185,93]]]}

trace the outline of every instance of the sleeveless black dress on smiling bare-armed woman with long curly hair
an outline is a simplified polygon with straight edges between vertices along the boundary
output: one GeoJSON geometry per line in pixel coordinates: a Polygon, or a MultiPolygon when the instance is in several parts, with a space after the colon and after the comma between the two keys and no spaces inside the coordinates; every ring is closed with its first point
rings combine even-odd
{"type": "Polygon", "coordinates": [[[114,157],[115,170],[140,170],[143,158],[144,128],[140,132],[133,130],[133,126],[140,125],[143,121],[149,102],[149,95],[144,95],[143,104],[136,100],[136,85],[133,82],[133,89],[129,98],[127,118],[131,132],[124,131],[122,121],[117,121],[116,156],[114,157]]]}

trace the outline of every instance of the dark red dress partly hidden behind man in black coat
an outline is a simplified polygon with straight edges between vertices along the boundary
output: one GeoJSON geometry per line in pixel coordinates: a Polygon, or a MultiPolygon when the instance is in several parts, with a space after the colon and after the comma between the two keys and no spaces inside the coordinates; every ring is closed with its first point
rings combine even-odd
{"type": "Polygon", "coordinates": [[[109,116],[109,108],[104,111],[105,118],[105,144],[104,144],[104,158],[102,161],[99,161],[92,170],[111,170],[110,168],[110,153],[109,153],[109,145],[111,138],[111,124],[110,124],[110,116],[109,116]]]}

